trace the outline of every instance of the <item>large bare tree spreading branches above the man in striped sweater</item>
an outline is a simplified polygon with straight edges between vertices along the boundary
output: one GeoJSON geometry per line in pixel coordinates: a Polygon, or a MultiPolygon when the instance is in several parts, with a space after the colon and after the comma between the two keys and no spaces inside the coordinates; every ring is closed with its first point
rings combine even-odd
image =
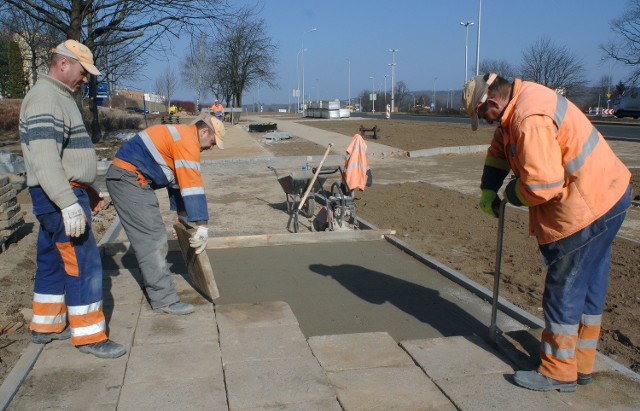
{"type": "MultiPolygon", "coordinates": [[[[211,30],[232,18],[236,7],[227,0],[4,0],[11,8],[52,26],[64,37],[82,41],[96,60],[120,62],[106,53],[117,53],[125,61],[143,60],[154,51],[171,50],[169,39],[211,30]],[[111,46],[111,47],[109,47],[111,46]],[[126,51],[126,52],[125,52],[126,51]]],[[[100,138],[97,79],[89,84],[92,98],[92,139],[100,138]]]]}

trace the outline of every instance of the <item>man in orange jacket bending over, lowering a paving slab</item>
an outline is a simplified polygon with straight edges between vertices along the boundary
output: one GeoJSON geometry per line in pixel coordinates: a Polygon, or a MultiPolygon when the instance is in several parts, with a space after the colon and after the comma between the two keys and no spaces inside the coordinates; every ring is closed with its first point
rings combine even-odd
{"type": "Polygon", "coordinates": [[[167,267],[167,232],[154,190],[166,187],[171,210],[197,226],[189,239],[196,253],[209,238],[209,213],[200,173],[200,152],[224,148],[224,125],[208,114],[188,124],[164,124],[140,131],[120,147],[107,170],[106,184],[138,260],[151,308],[190,314],[180,301],[167,267]]]}

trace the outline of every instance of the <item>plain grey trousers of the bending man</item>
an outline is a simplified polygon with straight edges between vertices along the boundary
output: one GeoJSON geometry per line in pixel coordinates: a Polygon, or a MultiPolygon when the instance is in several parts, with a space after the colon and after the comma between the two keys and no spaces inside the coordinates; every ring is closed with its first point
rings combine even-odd
{"type": "Polygon", "coordinates": [[[113,165],[105,178],[113,205],[138,260],[151,307],[180,301],[167,266],[167,231],[155,192],[149,186],[141,186],[135,173],[113,165]]]}

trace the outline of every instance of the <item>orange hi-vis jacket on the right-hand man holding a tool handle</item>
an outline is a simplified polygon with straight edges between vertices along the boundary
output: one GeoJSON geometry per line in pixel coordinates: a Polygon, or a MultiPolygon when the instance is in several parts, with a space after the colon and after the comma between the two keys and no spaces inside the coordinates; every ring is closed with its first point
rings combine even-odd
{"type": "Polygon", "coordinates": [[[486,166],[510,167],[539,244],[567,237],[622,197],[631,173],[589,119],[553,90],[516,79],[486,166]]]}

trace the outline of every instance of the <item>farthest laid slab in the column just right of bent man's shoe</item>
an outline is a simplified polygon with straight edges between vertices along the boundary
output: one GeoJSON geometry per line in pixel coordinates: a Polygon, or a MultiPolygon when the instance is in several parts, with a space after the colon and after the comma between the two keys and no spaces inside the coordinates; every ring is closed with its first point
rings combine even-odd
{"type": "Polygon", "coordinates": [[[298,324],[289,304],[282,301],[223,304],[217,305],[215,309],[216,321],[221,331],[238,327],[298,324]]]}

